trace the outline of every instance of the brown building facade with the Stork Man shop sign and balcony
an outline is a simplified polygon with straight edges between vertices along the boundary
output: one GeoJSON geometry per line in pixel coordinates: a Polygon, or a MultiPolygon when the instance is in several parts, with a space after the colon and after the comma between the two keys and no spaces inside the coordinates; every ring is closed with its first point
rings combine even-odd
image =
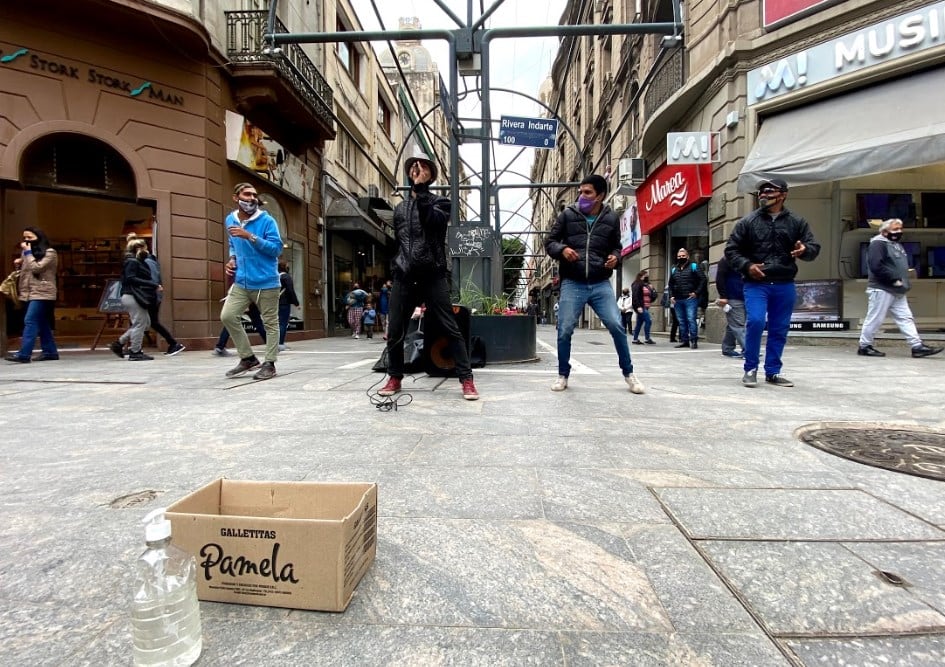
{"type": "MultiPolygon", "coordinates": [[[[222,221],[243,181],[279,222],[302,301],[296,335],[325,334],[316,182],[333,91],[316,49],[266,48],[256,4],[4,5],[0,239],[7,265],[26,226],[59,251],[61,339],[103,333],[100,300],[133,231],[161,261],[165,324],[209,348],[226,290],[222,221]]],[[[280,3],[276,30],[316,29],[306,4],[280,3]]]]}

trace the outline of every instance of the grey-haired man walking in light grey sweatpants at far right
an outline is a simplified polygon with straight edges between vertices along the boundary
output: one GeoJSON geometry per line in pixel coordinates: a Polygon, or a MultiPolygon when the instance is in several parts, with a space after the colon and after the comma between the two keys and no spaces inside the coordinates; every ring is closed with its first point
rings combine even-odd
{"type": "Polygon", "coordinates": [[[912,348],[913,357],[930,357],[942,351],[941,347],[929,347],[919,338],[915,328],[915,318],[906,300],[909,291],[909,259],[900,245],[902,240],[902,220],[893,218],[880,225],[879,234],[870,239],[869,245],[869,282],[866,296],[869,306],[860,329],[860,349],[857,354],[864,357],[885,357],[873,347],[873,337],[891,313],[896,326],[906,337],[912,348]]]}

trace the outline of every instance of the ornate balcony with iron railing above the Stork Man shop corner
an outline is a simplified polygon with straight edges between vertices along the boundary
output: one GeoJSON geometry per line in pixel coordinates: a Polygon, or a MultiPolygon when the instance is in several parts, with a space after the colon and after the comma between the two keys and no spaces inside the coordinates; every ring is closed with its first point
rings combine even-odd
{"type": "MultiPolygon", "coordinates": [[[[285,44],[278,52],[263,52],[266,11],[224,15],[226,55],[239,112],[294,150],[333,139],[331,86],[301,47],[285,44]]],[[[288,32],[278,18],[275,32],[288,32]]]]}

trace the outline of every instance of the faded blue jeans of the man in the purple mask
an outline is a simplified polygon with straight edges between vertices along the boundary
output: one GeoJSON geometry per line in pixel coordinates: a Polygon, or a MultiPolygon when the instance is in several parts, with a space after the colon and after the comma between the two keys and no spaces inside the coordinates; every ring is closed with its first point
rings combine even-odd
{"type": "Polygon", "coordinates": [[[624,377],[630,375],[633,372],[630,345],[627,344],[627,332],[623,328],[623,319],[610,283],[606,280],[579,283],[568,278],[561,281],[561,296],[558,300],[558,375],[571,375],[571,336],[585,305],[590,305],[607,327],[614,339],[620,370],[624,377]]]}

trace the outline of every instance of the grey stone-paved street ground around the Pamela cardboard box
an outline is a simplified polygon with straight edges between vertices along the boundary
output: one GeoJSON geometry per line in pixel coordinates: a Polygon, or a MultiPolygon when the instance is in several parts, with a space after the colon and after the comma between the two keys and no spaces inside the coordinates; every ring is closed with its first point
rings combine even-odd
{"type": "Polygon", "coordinates": [[[945,662],[945,485],[795,437],[945,429],[945,355],[792,346],[796,387],[746,389],[664,338],[632,346],[635,396],[579,331],[552,393],[544,326],[539,362],[477,371],[482,400],[422,377],[381,412],[382,345],[294,343],[263,383],[207,352],[0,367],[0,664],[130,664],[139,522],[220,476],[377,481],[378,556],[343,614],[201,603],[200,665],[945,662]]]}

